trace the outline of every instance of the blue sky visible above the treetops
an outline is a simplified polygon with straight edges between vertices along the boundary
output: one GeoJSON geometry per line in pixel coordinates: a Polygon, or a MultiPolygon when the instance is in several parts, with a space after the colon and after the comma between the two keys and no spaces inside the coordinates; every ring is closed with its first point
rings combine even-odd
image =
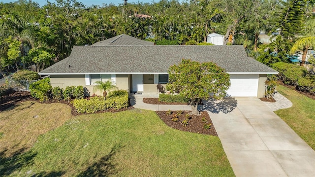
{"type": "MultiPolygon", "coordinates": [[[[13,2],[13,1],[17,1],[17,0],[0,0],[0,2],[13,2]]],[[[47,3],[47,0],[32,0],[34,2],[37,2],[39,4],[39,6],[43,6],[47,3]]],[[[50,2],[56,2],[55,0],[49,0],[50,2]]],[[[91,6],[91,5],[102,5],[103,3],[105,4],[110,4],[110,3],[114,3],[115,5],[118,5],[120,3],[124,3],[124,0],[77,0],[78,2],[82,2],[83,4],[85,4],[86,6],[91,6]]],[[[159,0],[128,0],[127,2],[131,3],[131,2],[149,2],[152,3],[153,1],[158,2],[159,0]]]]}

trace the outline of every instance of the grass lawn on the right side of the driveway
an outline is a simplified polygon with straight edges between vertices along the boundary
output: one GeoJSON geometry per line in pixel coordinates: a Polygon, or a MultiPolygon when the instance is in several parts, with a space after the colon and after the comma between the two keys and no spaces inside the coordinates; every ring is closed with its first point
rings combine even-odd
{"type": "Polygon", "coordinates": [[[277,90],[289,99],[293,106],[275,113],[315,150],[315,100],[282,85],[279,85],[277,90]]]}

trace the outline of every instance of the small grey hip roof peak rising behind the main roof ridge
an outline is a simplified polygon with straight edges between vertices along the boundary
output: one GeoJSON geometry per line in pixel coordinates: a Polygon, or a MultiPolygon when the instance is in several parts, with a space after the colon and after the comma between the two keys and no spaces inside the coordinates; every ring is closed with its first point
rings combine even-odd
{"type": "Polygon", "coordinates": [[[92,46],[147,46],[154,45],[154,42],[137,39],[130,35],[117,35],[92,44],[92,46]]]}

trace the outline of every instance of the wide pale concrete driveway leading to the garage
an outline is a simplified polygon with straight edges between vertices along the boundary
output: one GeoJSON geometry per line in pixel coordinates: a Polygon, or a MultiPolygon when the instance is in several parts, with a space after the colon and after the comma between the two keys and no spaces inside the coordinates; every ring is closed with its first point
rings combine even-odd
{"type": "Polygon", "coordinates": [[[315,176],[315,151],[259,99],[205,104],[236,177],[315,176]]]}

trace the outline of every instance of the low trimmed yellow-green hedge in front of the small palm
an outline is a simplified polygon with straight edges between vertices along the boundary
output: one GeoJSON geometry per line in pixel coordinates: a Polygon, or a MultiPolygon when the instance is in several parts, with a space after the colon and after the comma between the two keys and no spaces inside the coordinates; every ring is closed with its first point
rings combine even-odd
{"type": "Polygon", "coordinates": [[[121,109],[127,107],[128,92],[126,90],[118,90],[110,92],[106,99],[104,97],[91,97],[87,99],[75,99],[73,106],[79,113],[94,113],[106,109],[121,109]]]}

